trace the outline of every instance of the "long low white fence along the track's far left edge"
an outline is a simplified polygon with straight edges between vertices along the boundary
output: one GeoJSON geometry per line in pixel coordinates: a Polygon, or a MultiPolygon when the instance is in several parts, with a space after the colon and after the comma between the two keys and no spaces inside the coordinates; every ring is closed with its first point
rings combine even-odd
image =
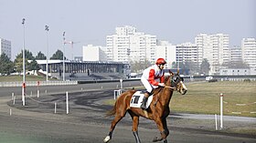
{"type": "MultiPolygon", "coordinates": [[[[60,86],[60,85],[77,85],[78,81],[26,81],[27,87],[34,86],[60,86]]],[[[0,82],[0,87],[21,87],[22,81],[16,82],[0,82]]]]}

